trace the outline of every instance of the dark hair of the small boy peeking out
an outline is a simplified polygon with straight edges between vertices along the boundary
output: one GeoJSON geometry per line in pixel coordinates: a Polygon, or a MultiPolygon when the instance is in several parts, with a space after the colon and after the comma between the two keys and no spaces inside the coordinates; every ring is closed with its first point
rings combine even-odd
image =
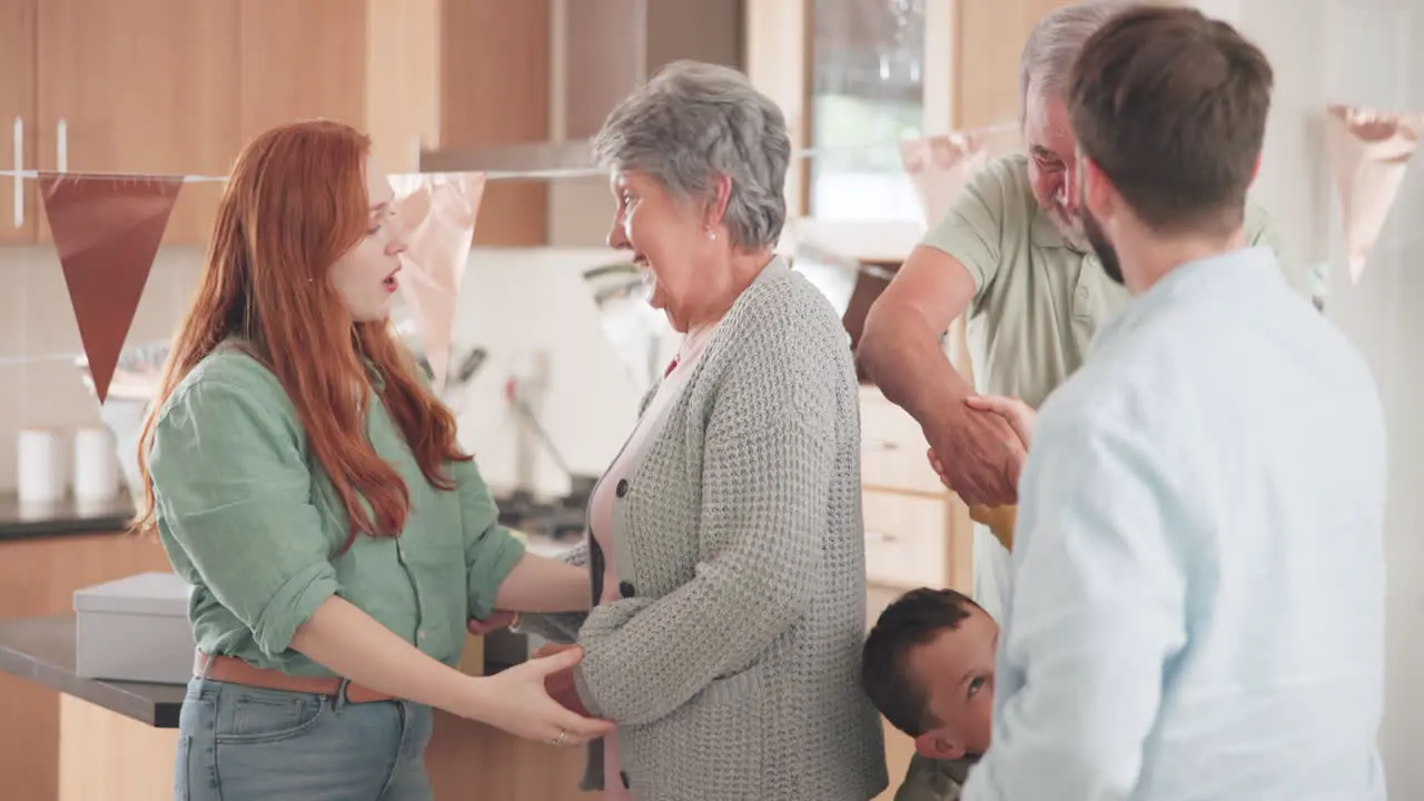
{"type": "Polygon", "coordinates": [[[946,629],[958,629],[975,609],[980,606],[963,593],[921,587],[880,613],[860,653],[860,684],[890,725],[910,737],[936,725],[926,708],[926,691],[910,680],[906,660],[911,648],[946,629]]]}

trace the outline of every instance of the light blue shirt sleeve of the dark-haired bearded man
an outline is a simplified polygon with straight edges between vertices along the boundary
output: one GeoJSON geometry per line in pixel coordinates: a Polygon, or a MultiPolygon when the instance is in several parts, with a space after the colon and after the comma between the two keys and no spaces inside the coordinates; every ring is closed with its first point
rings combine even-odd
{"type": "MultiPolygon", "coordinates": [[[[1079,415],[1084,418],[1087,415],[1079,415]]],[[[968,801],[1125,801],[1186,643],[1192,516],[1124,426],[1045,416],[1024,473],[994,744],[968,801]]]]}

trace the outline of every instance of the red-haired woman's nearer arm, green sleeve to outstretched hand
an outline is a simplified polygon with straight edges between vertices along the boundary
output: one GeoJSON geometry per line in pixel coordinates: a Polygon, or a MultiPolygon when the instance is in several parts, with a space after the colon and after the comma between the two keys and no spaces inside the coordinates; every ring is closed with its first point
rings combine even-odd
{"type": "Polygon", "coordinates": [[[179,573],[197,573],[266,654],[296,650],[379,693],[524,737],[553,740],[562,728],[565,741],[584,741],[608,728],[543,688],[543,676],[577,663],[577,653],[471,677],[342,599],[285,395],[275,379],[232,372],[231,383],[189,386],[155,426],[150,473],[179,573]]]}

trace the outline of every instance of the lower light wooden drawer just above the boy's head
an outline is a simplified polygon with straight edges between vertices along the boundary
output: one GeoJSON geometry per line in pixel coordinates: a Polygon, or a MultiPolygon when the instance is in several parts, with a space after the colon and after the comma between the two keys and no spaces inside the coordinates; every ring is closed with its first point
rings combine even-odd
{"type": "Polygon", "coordinates": [[[948,586],[948,503],[866,492],[866,579],[891,587],[948,586]]]}

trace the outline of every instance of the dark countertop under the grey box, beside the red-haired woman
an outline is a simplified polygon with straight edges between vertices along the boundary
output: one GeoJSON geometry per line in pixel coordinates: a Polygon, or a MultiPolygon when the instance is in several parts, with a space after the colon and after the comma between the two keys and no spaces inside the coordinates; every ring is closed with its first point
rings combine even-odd
{"type": "MultiPolygon", "coordinates": [[[[74,626],[73,614],[0,620],[0,671],[85,700],[154,728],[178,728],[178,715],[188,691],[185,684],[105,681],[77,676],[74,626]],[[23,640],[28,647],[21,650],[14,640],[23,640]],[[33,654],[31,650],[47,653],[33,654]]],[[[504,658],[487,656],[484,660],[486,676],[510,667],[514,664],[507,656],[504,658]]]]}

